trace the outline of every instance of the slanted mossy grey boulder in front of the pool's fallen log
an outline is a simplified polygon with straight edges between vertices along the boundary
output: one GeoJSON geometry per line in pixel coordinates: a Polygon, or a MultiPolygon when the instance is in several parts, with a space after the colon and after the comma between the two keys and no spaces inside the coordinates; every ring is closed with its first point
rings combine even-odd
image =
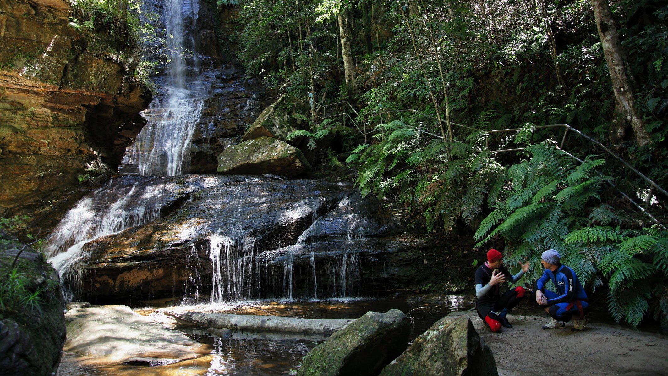
{"type": "Polygon", "coordinates": [[[405,349],[409,325],[398,309],[367,312],[311,350],[297,375],[377,375],[405,349]]]}

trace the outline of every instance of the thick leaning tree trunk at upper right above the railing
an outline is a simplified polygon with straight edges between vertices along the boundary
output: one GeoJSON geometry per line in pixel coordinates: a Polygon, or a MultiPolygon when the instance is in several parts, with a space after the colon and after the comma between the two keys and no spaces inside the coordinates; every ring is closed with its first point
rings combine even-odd
{"type": "Polygon", "coordinates": [[[613,144],[621,142],[630,124],[635,132],[636,143],[641,146],[647,145],[650,142],[649,134],[635,107],[631,70],[622,49],[608,1],[591,0],[591,2],[601,36],[605,61],[608,63],[610,78],[613,81],[613,93],[615,93],[615,119],[611,125],[610,140],[613,144]]]}

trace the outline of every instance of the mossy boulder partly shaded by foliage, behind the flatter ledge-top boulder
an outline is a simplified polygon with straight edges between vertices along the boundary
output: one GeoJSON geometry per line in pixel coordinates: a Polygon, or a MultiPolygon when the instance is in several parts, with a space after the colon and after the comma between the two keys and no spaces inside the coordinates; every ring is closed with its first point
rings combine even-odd
{"type": "Polygon", "coordinates": [[[273,137],[285,141],[295,130],[307,128],[305,117],[309,116],[309,107],[299,98],[285,94],[271,106],[265,108],[248,128],[241,142],[260,137],[273,137]]]}

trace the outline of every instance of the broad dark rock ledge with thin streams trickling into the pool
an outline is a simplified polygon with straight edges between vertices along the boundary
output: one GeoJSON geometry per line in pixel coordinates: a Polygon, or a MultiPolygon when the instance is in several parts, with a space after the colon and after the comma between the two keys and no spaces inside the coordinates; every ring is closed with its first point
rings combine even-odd
{"type": "MultiPolygon", "coordinates": [[[[124,176],[85,196],[70,213],[72,223],[85,224],[85,234],[96,234],[102,222],[114,232],[83,245],[75,262],[82,279],[74,272],[68,282],[76,299],[92,303],[368,297],[436,280],[470,283],[466,268],[451,266],[466,260],[466,237],[440,245],[407,234],[401,220],[349,183],[124,176]]],[[[69,238],[66,229],[56,228],[49,239],[65,237],[54,264],[82,240],[69,238]]]]}

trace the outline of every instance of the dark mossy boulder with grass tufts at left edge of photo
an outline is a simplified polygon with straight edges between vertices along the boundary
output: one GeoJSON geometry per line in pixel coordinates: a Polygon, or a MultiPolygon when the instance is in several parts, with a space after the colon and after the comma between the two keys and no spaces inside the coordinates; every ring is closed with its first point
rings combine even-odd
{"type": "Polygon", "coordinates": [[[0,232],[0,373],[53,375],[65,343],[65,303],[58,273],[32,249],[0,232]],[[29,295],[37,293],[37,299],[29,295]],[[31,301],[31,303],[29,303],[31,301]]]}

